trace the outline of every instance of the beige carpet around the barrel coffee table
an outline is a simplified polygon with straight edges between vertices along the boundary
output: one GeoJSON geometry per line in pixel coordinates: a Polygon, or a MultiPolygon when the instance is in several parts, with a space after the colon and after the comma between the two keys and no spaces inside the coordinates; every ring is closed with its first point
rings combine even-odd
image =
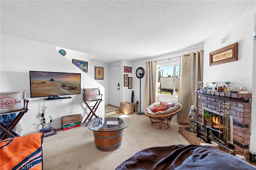
{"type": "Polygon", "coordinates": [[[136,152],[153,146],[190,144],[179,132],[178,124],[171,122],[167,130],[150,126],[146,115],[127,115],[131,120],[124,129],[120,148],[104,152],[96,148],[93,132],[77,127],[44,138],[44,170],[114,170],[136,152]]]}

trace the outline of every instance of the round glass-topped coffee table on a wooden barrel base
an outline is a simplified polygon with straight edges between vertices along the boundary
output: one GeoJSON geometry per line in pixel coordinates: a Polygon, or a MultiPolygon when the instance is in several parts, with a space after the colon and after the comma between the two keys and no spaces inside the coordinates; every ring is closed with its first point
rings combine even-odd
{"type": "Polygon", "coordinates": [[[90,120],[87,127],[93,130],[96,148],[111,151],[121,146],[124,128],[130,123],[128,118],[102,116],[90,120]]]}

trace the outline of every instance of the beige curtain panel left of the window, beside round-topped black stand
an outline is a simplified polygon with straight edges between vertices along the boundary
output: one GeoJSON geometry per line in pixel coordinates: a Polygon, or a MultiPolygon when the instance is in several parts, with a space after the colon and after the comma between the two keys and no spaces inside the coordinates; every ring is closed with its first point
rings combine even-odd
{"type": "Polygon", "coordinates": [[[156,71],[157,63],[155,61],[146,62],[145,88],[144,88],[144,108],[156,102],[156,71]]]}

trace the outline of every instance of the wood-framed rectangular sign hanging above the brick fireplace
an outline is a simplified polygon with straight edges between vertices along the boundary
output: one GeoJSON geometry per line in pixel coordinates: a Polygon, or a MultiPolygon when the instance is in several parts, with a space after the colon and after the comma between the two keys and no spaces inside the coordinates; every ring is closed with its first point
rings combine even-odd
{"type": "Polygon", "coordinates": [[[210,52],[210,65],[237,61],[237,46],[238,43],[236,42],[234,44],[228,45],[216,51],[210,52]]]}

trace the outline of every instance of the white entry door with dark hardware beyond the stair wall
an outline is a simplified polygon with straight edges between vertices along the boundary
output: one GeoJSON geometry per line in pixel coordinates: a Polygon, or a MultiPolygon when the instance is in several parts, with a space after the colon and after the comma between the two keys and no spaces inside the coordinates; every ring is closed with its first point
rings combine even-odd
{"type": "Polygon", "coordinates": [[[120,65],[109,67],[108,79],[108,103],[120,107],[120,65]]]}

